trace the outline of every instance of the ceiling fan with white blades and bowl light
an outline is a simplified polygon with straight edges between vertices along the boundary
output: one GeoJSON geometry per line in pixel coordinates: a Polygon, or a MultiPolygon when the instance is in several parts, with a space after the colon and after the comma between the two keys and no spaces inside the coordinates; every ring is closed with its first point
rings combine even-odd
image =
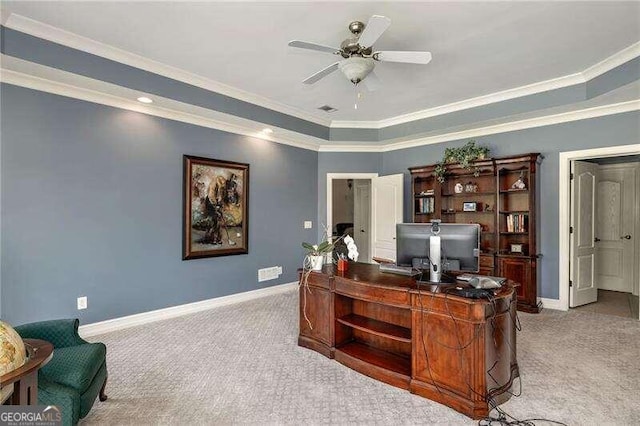
{"type": "Polygon", "coordinates": [[[360,21],[354,21],[349,24],[349,31],[351,31],[353,35],[345,39],[340,44],[339,49],[308,41],[290,41],[289,46],[291,47],[332,53],[344,58],[318,71],[302,82],[305,84],[313,84],[339,69],[353,84],[357,85],[361,81],[364,81],[369,90],[375,90],[379,85],[379,80],[373,72],[376,61],[404,62],[421,65],[426,65],[431,61],[431,53],[429,52],[399,50],[374,51],[372,47],[373,44],[387,28],[389,28],[389,25],[391,25],[391,19],[380,15],[373,15],[367,25],[360,21]],[[369,76],[369,78],[365,80],[367,76],[369,76]]]}

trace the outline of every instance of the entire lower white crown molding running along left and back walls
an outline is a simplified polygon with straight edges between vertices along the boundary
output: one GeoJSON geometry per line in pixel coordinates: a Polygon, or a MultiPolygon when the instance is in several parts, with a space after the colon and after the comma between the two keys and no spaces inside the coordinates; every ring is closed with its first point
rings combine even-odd
{"type": "Polygon", "coordinates": [[[276,131],[272,135],[265,136],[260,133],[264,127],[263,123],[160,97],[156,97],[157,104],[145,105],[133,100],[139,96],[139,93],[132,89],[5,55],[0,56],[0,61],[2,63],[0,82],[3,83],[319,152],[389,152],[640,110],[640,99],[634,99],[507,123],[480,125],[480,127],[471,129],[449,131],[397,142],[360,144],[351,141],[327,142],[323,139],[279,128],[274,128],[276,131]],[[40,73],[45,78],[33,75],[33,73],[40,73]],[[114,92],[120,96],[113,95],[114,92]]]}

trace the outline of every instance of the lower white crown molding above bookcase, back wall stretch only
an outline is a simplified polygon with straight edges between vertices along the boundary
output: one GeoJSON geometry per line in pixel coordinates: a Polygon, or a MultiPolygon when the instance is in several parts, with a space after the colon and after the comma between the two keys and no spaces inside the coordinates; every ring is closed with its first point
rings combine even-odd
{"type": "Polygon", "coordinates": [[[583,108],[575,111],[550,114],[542,117],[516,120],[508,123],[495,124],[485,127],[449,132],[440,135],[415,138],[411,140],[387,143],[385,145],[349,145],[349,142],[333,142],[336,145],[320,145],[320,152],[389,152],[400,149],[415,148],[423,145],[432,145],[450,142],[460,139],[478,138],[481,136],[507,133],[517,130],[531,129],[535,127],[551,126],[554,124],[568,123],[571,121],[586,120],[589,118],[604,117],[607,115],[621,114],[640,110],[640,99],[615,104],[583,108]]]}

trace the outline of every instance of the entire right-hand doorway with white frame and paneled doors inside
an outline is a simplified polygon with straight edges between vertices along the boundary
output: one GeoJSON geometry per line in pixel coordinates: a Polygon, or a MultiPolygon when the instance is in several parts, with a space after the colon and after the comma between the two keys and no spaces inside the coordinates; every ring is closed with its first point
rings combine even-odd
{"type": "Polygon", "coordinates": [[[640,319],[640,145],[561,153],[560,173],[559,308],[640,319]]]}

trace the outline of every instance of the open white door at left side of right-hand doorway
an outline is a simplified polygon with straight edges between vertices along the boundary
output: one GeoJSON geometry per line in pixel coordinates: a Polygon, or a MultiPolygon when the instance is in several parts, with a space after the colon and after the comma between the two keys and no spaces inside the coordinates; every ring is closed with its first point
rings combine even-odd
{"type": "Polygon", "coordinates": [[[595,202],[598,186],[598,165],[585,161],[571,163],[571,264],[569,267],[569,306],[598,300],[595,280],[595,202]]]}

